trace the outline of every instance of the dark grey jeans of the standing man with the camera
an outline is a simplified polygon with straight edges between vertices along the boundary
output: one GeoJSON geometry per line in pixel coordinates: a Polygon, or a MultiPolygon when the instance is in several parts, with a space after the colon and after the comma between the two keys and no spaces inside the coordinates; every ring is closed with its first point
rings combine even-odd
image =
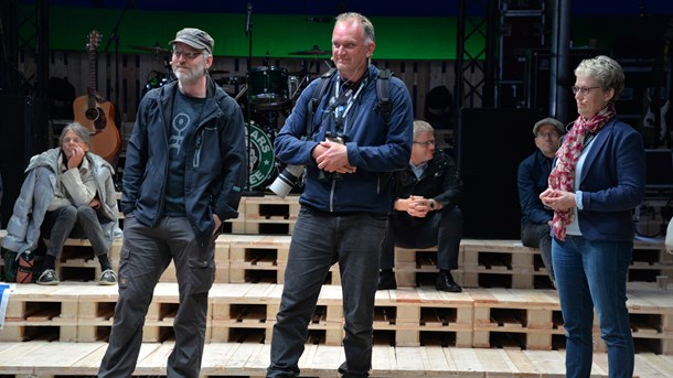
{"type": "Polygon", "coordinates": [[[385,214],[334,216],[302,207],[292,233],[267,377],[296,377],[308,325],[330,267],[339,261],[344,377],[367,377],[372,365],[374,295],[385,214]]]}

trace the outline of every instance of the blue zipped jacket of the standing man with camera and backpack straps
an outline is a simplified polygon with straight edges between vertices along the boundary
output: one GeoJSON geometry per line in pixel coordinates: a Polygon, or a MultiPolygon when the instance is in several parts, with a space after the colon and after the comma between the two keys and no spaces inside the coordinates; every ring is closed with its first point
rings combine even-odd
{"type": "Polygon", "coordinates": [[[320,80],[313,80],[297,100],[274,147],[280,161],[307,165],[305,188],[299,199],[301,204],[334,213],[389,212],[392,172],[409,164],[414,118],[407,87],[400,79],[391,77],[392,112],[386,125],[377,107],[377,75],[378,69],[370,65],[365,73],[365,87],[346,117],[349,163],[357,171],[344,174],[343,181],[319,181],[319,169],[311,156],[313,148],[324,140],[325,130],[332,127],[332,117],[327,109],[339,75],[330,79],[313,117],[318,130],[308,140],[301,139],[306,134],[307,104],[320,80]]]}

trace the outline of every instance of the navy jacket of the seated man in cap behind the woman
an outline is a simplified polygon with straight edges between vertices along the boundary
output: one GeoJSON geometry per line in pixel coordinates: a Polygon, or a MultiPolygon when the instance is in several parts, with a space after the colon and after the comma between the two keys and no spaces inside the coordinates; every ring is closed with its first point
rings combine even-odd
{"type": "Polygon", "coordinates": [[[549,187],[548,179],[552,172],[552,161],[553,159],[536,150],[519,164],[516,184],[519,186],[522,225],[526,223],[543,225],[554,217],[554,212],[546,208],[540,201],[540,194],[549,187]]]}

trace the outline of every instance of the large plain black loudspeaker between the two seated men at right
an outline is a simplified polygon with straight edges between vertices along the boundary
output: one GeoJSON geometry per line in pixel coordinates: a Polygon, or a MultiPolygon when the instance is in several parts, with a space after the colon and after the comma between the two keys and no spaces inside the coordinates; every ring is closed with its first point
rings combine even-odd
{"type": "Polygon", "coordinates": [[[463,183],[463,237],[519,239],[519,164],[535,151],[534,109],[460,110],[457,163],[463,183]]]}

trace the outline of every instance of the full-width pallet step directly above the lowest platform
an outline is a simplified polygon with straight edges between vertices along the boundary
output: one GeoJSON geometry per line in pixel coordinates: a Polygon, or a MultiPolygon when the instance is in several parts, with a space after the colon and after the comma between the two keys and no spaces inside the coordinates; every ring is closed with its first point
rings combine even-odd
{"type": "MultiPolygon", "coordinates": [[[[207,342],[270,341],[282,285],[216,283],[209,296],[207,342]]],[[[19,284],[11,293],[0,341],[106,341],[117,299],[116,287],[62,283],[19,284]]],[[[673,354],[673,295],[638,283],[627,306],[637,349],[673,354]]],[[[146,316],[145,342],[173,338],[178,285],[159,283],[146,316]]],[[[558,296],[553,290],[400,288],[376,293],[374,336],[396,346],[437,343],[457,347],[563,349],[558,296]]],[[[317,344],[341,345],[341,287],[323,285],[309,324],[317,344]]],[[[595,330],[597,350],[605,349],[595,330]]]]}

